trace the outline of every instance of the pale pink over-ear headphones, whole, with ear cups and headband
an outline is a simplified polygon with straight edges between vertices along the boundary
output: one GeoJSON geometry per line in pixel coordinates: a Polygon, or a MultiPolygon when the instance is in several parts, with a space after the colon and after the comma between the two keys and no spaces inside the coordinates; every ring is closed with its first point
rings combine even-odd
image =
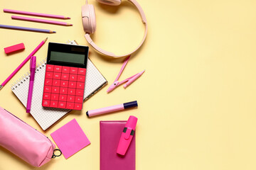
{"type": "MultiPolygon", "coordinates": [[[[97,0],[97,1],[102,4],[107,4],[111,6],[118,6],[119,4],[121,4],[121,0],[97,0]]],[[[129,55],[132,55],[132,53],[136,52],[139,49],[139,47],[142,46],[144,40],[146,39],[147,24],[146,24],[146,16],[144,14],[144,11],[142,10],[142,7],[139,5],[137,1],[135,0],[128,0],[128,1],[134,4],[134,6],[136,6],[136,8],[139,10],[139,13],[142,17],[142,23],[144,23],[145,31],[144,31],[144,37],[142,39],[142,42],[140,42],[139,46],[135,48],[135,50],[133,50],[132,52],[129,52],[127,55],[114,55],[114,53],[107,52],[102,48],[98,47],[95,44],[95,42],[92,41],[92,38],[90,38],[90,34],[95,33],[95,30],[96,30],[95,8],[93,5],[88,4],[87,0],[85,5],[82,6],[82,26],[85,30],[85,39],[95,50],[102,53],[103,55],[107,55],[114,58],[127,57],[129,55]]]]}

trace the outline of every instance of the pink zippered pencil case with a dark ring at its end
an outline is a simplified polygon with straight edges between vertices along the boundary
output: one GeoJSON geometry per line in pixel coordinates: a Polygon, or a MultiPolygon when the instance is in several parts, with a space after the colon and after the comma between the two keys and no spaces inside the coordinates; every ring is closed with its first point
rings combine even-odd
{"type": "Polygon", "coordinates": [[[54,157],[55,145],[41,132],[0,107],[0,146],[33,166],[54,157]]]}

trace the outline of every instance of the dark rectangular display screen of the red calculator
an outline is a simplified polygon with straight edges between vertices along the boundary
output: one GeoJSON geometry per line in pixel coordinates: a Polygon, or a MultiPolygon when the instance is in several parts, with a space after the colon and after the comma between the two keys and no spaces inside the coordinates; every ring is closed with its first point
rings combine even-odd
{"type": "Polygon", "coordinates": [[[51,51],[50,60],[55,62],[69,62],[69,63],[84,64],[85,55],[51,51]]]}

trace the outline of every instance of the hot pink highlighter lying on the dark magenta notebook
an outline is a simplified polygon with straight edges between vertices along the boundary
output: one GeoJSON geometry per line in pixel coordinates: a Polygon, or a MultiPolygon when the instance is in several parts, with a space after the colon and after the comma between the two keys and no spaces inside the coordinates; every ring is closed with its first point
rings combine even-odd
{"type": "Polygon", "coordinates": [[[119,140],[117,154],[124,155],[127,152],[127,149],[132,141],[132,137],[135,132],[137,120],[138,118],[133,115],[130,115],[129,119],[127,120],[121,138],[119,140]]]}

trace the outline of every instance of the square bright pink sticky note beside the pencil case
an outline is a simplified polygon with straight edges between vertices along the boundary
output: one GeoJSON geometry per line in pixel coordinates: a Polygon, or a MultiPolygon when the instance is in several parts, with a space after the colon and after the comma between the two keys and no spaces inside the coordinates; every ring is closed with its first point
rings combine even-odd
{"type": "Polygon", "coordinates": [[[82,128],[80,128],[75,119],[63,125],[63,127],[50,134],[50,136],[53,137],[65,159],[68,159],[80,151],[80,149],[90,144],[85,132],[82,131],[82,128]]]}

